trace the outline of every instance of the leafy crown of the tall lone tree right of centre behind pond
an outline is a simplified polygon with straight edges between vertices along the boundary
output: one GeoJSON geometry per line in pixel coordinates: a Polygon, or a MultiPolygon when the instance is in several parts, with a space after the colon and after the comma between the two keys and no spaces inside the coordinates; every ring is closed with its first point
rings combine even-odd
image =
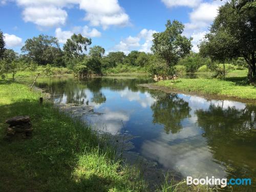
{"type": "Polygon", "coordinates": [[[153,34],[153,46],[151,50],[154,54],[165,60],[167,67],[173,67],[180,58],[183,58],[191,50],[192,38],[182,36],[184,25],[177,20],[173,23],[167,20],[164,32],[153,34]]]}

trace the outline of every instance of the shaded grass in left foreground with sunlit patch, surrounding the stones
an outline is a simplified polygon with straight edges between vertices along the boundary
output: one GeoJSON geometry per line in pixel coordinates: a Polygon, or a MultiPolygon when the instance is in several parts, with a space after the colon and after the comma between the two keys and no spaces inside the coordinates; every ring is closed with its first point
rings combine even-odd
{"type": "Polygon", "coordinates": [[[129,179],[117,173],[112,154],[97,148],[99,140],[88,125],[37,101],[0,105],[0,111],[0,191],[126,191],[131,187],[129,179]],[[7,141],[5,120],[17,115],[30,116],[32,138],[7,141]]]}

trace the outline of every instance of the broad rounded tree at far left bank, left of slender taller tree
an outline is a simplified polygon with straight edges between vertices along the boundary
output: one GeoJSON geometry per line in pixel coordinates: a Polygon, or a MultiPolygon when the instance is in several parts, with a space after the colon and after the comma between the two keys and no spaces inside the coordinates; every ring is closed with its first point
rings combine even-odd
{"type": "Polygon", "coordinates": [[[48,63],[57,65],[54,61],[62,56],[58,39],[42,34],[38,37],[27,39],[22,47],[22,52],[27,53],[38,65],[47,65],[48,63]]]}

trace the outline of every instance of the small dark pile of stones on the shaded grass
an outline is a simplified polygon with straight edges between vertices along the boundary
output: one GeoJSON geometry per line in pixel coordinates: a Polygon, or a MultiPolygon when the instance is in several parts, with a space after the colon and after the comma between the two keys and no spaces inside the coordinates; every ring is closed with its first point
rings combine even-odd
{"type": "Polygon", "coordinates": [[[16,134],[24,138],[31,136],[33,128],[29,116],[16,116],[5,121],[9,124],[6,136],[12,137],[16,134]]]}

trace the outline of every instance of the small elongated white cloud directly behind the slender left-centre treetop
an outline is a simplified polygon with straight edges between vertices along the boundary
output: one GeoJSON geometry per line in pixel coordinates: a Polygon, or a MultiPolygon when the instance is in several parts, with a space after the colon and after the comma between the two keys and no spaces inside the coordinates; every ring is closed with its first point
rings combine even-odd
{"type": "Polygon", "coordinates": [[[74,27],[71,31],[62,31],[61,28],[57,28],[55,30],[55,36],[58,38],[59,42],[64,44],[68,38],[70,38],[74,33],[81,33],[83,36],[86,37],[100,37],[101,33],[93,28],[90,29],[88,26],[78,26],[74,27]]]}

